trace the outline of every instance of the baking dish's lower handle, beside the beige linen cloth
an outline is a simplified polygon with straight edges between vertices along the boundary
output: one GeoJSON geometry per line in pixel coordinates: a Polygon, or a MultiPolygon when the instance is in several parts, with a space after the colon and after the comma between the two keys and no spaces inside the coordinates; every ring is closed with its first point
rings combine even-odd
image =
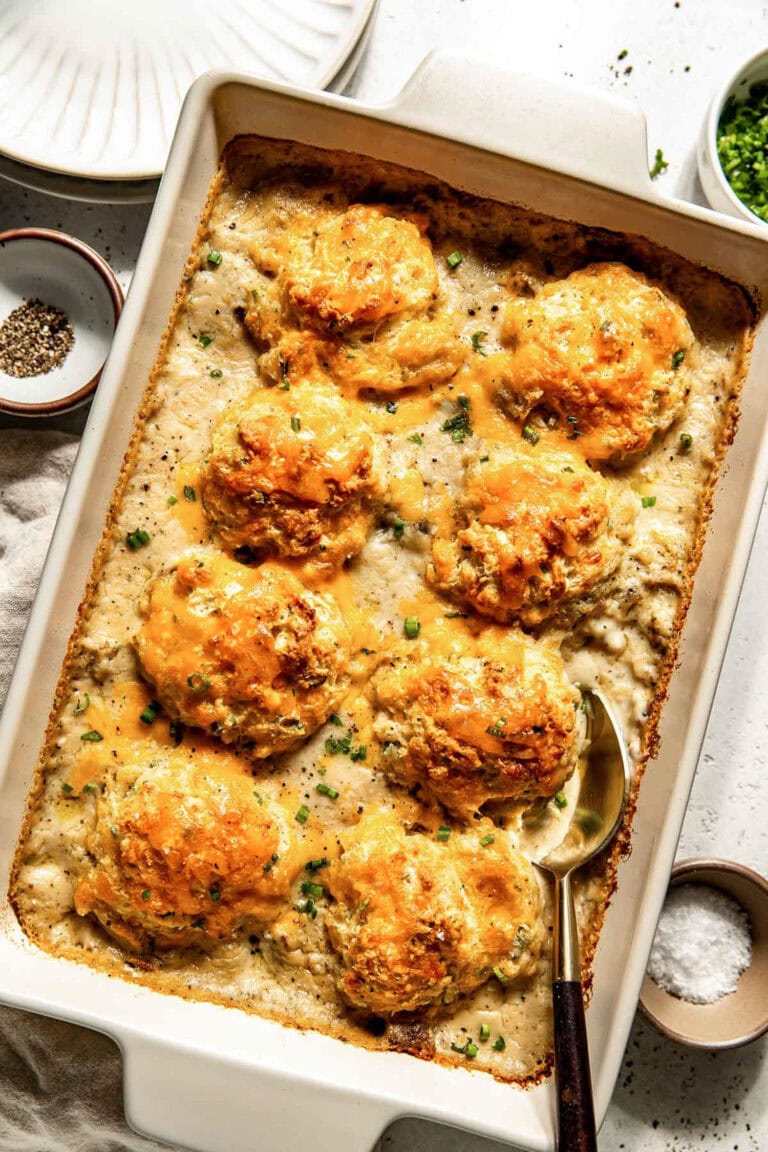
{"type": "Polygon", "coordinates": [[[296,1079],[235,1059],[121,1037],[126,1119],[136,1131],[196,1152],[371,1152],[394,1104],[296,1079]]]}

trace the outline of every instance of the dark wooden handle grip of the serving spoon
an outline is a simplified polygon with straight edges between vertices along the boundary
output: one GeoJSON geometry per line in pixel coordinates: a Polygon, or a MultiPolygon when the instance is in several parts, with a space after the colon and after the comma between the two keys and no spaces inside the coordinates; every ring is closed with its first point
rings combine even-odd
{"type": "Polygon", "coordinates": [[[596,1152],[590,1048],[580,980],[555,980],[555,1087],[558,1152],[596,1152]]]}

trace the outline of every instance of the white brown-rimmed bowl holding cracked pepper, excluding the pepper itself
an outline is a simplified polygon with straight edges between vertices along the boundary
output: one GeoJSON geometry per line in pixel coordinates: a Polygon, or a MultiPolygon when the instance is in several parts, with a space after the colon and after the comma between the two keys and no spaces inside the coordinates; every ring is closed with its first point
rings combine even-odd
{"type": "Polygon", "coordinates": [[[47,228],[0,233],[0,324],[22,301],[36,298],[67,313],[75,343],[45,374],[15,377],[0,369],[0,411],[53,416],[96,391],[123,294],[109,265],[74,236],[47,228]]]}

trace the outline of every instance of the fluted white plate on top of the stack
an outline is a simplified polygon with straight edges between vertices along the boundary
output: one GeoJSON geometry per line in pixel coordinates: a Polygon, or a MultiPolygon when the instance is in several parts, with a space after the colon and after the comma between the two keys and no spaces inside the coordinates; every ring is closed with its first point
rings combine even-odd
{"type": "Polygon", "coordinates": [[[375,0],[0,0],[0,152],[97,180],[160,174],[211,68],[325,88],[375,0]]]}

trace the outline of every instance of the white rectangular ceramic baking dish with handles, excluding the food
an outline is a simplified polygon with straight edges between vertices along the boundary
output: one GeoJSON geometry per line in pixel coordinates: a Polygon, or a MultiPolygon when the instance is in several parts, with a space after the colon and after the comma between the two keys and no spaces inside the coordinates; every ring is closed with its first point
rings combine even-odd
{"type": "MultiPolygon", "coordinates": [[[[662,197],[645,121],[575,85],[427,59],[387,107],[243,76],[199,79],[184,105],[123,317],[62,506],[0,727],[0,885],[8,870],[67,638],[222,145],[238,132],[359,152],[478,195],[638,233],[768,297],[758,227],[662,197]]],[[[645,776],[633,850],[619,867],[587,1013],[598,1119],[606,1113],[768,479],[768,331],[761,319],[739,431],[645,776]]],[[[554,1143],[549,1082],[523,1091],[482,1073],[372,1053],[234,1009],[188,1002],[55,960],[0,910],[0,1000],[113,1036],[134,1127],[200,1152],[367,1152],[419,1115],[531,1150],[554,1143]]]]}

